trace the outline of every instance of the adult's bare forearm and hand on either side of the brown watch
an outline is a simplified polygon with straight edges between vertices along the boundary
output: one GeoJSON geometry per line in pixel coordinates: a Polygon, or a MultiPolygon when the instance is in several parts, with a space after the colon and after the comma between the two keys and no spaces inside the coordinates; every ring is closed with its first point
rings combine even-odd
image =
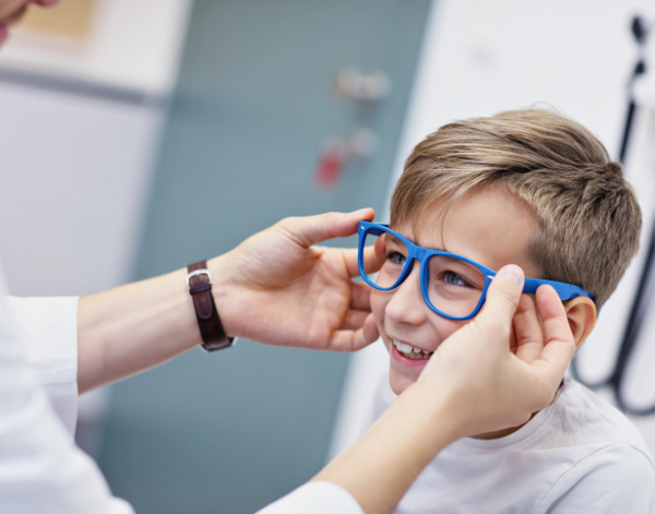
{"type": "MultiPolygon", "coordinates": [[[[228,336],[355,351],[378,337],[370,290],[355,283],[357,253],[312,244],[352,236],[372,210],[287,218],[212,259],[213,296],[228,336]]],[[[80,300],[81,392],[152,368],[201,343],[179,270],[80,300]]]]}

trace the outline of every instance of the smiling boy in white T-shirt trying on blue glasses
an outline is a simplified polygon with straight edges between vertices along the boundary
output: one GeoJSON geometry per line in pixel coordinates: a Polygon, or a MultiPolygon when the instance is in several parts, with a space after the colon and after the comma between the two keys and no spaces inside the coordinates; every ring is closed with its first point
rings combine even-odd
{"type": "MultiPolygon", "coordinates": [[[[373,290],[371,307],[391,389],[401,394],[417,380],[440,342],[481,306],[488,273],[510,263],[526,277],[564,283],[560,298],[580,346],[636,252],[640,228],[621,166],[580,124],[529,109],[442,127],[405,164],[393,232],[378,230],[384,264],[369,279],[385,290],[373,290]],[[412,243],[464,260],[424,252],[419,263],[412,243]]],[[[520,309],[514,324],[523,322],[520,309]]],[[[521,342],[510,346],[529,355],[521,342]]],[[[391,402],[381,393],[376,415],[391,402]]],[[[445,449],[396,512],[653,513],[655,466],[627,418],[567,379],[527,423],[445,449]]]]}

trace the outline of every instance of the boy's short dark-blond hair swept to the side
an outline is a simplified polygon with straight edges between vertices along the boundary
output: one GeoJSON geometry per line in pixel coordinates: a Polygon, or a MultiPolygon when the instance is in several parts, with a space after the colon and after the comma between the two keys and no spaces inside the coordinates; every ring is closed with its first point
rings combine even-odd
{"type": "Polygon", "coordinates": [[[525,109],[441,127],[405,163],[391,202],[392,226],[437,199],[501,187],[532,207],[540,230],[531,258],[540,278],[583,287],[599,309],[639,248],[641,211],[621,165],[581,124],[525,109]]]}

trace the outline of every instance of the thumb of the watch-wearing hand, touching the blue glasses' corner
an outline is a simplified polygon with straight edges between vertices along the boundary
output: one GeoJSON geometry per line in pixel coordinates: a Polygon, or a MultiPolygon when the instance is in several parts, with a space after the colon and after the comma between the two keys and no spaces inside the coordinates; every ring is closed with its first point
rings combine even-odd
{"type": "Polygon", "coordinates": [[[324,213],[315,216],[291,217],[279,222],[281,228],[300,246],[309,248],[326,239],[348,237],[357,232],[362,219],[372,220],[372,208],[360,208],[352,213],[324,213]]]}

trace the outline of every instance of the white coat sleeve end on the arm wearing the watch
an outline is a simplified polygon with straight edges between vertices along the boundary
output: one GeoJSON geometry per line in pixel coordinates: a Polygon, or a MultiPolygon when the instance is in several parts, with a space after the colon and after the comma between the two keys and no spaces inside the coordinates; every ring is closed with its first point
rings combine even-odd
{"type": "Polygon", "coordinates": [[[27,363],[73,437],[78,420],[78,297],[7,297],[27,363]]]}

